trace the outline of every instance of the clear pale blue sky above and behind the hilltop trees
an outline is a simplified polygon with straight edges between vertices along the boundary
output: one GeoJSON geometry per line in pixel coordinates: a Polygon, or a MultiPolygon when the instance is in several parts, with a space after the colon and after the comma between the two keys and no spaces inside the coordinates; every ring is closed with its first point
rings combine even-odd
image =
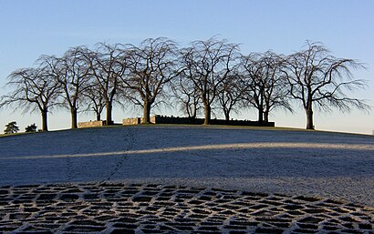
{"type": "MultiPolygon", "coordinates": [[[[374,106],[373,12],[372,0],[0,0],[0,86],[5,85],[12,71],[33,66],[38,56],[60,56],[72,46],[92,47],[98,42],[138,45],[143,39],[158,36],[167,36],[185,46],[193,40],[218,35],[241,44],[244,54],[268,49],[290,54],[306,40],[320,41],[335,56],[366,63],[367,70],[354,74],[368,80],[369,87],[353,95],[371,100],[369,104],[374,106]]],[[[1,88],[0,95],[5,93],[5,88],[1,88]]],[[[255,119],[253,112],[237,117],[255,119]]],[[[120,121],[140,113],[117,109],[114,118],[120,121]]],[[[68,111],[51,114],[51,129],[70,126],[68,111]]],[[[79,116],[81,121],[90,118],[93,115],[79,116]]],[[[21,130],[34,122],[41,126],[39,113],[22,115],[18,110],[0,110],[1,131],[12,120],[21,130]]],[[[271,120],[277,126],[306,125],[300,107],[294,115],[275,112],[271,120]]],[[[374,111],[369,115],[358,111],[316,113],[315,122],[318,129],[371,134],[374,111]]]]}

